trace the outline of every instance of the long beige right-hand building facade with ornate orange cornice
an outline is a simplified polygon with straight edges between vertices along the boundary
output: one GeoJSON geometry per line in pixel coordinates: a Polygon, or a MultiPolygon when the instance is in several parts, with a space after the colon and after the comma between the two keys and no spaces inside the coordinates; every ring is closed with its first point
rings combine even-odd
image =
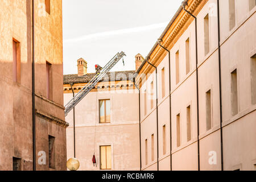
{"type": "Polygon", "coordinates": [[[185,9],[137,71],[142,170],[254,170],[255,1],[185,9]]]}

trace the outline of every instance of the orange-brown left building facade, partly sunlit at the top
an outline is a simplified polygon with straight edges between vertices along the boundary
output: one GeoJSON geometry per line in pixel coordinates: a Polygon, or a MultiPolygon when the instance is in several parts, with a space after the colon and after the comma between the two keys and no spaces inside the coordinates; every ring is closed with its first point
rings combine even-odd
{"type": "Polygon", "coordinates": [[[67,169],[62,1],[34,3],[33,44],[32,1],[0,1],[0,170],[67,169]]]}

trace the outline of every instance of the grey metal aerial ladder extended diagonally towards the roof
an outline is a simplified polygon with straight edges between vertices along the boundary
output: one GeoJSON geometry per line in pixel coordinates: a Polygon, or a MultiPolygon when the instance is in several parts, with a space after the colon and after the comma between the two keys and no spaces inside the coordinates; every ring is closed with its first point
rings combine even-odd
{"type": "Polygon", "coordinates": [[[117,64],[117,62],[122,59],[123,56],[126,56],[124,52],[121,52],[121,53],[118,52],[109,61],[109,63],[106,64],[104,68],[102,68],[102,70],[100,71],[100,74],[98,75],[96,74],[96,76],[94,76],[92,80],[90,80],[88,84],[86,84],[84,88],[82,88],[80,92],[77,93],[76,96],[73,97],[72,100],[70,100],[68,104],[65,105],[65,116],[67,116],[69,111],[71,111],[77,104],[79,104],[82,98],[84,98],[90,92],[90,90],[92,90],[96,86],[96,84],[99,81],[101,81],[101,79],[106,75],[106,73],[108,73],[110,69],[112,69],[114,65],[117,64]]]}

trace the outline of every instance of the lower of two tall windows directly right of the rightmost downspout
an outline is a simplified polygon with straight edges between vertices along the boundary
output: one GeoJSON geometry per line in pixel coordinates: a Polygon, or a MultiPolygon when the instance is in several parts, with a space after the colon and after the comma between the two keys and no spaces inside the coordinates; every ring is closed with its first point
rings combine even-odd
{"type": "Polygon", "coordinates": [[[231,73],[231,107],[232,115],[238,113],[238,99],[237,99],[237,69],[231,73]]]}

